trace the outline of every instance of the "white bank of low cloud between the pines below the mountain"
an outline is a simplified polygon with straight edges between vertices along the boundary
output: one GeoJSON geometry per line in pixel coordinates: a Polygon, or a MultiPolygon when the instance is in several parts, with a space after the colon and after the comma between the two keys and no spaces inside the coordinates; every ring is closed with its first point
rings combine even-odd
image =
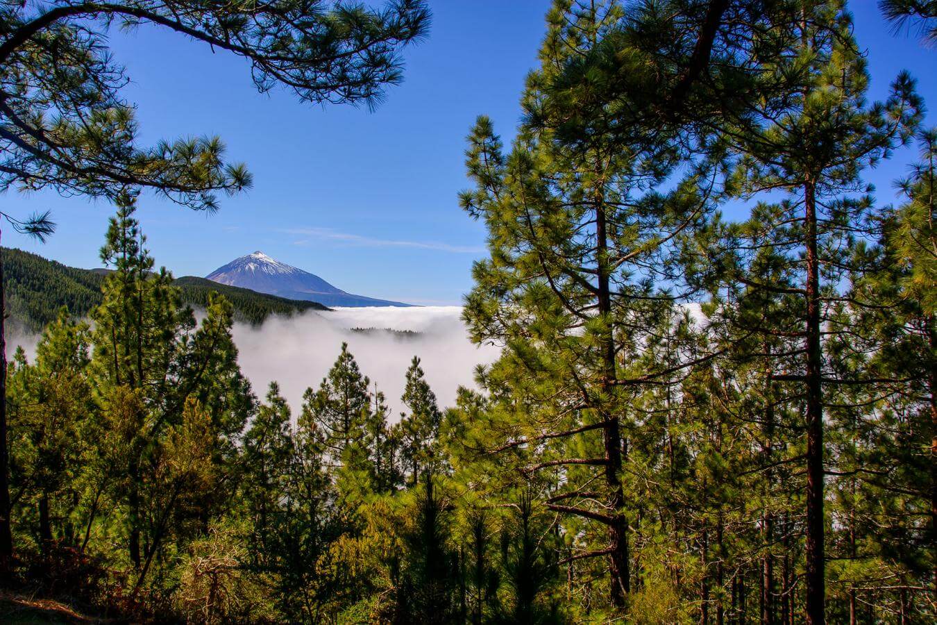
{"type": "Polygon", "coordinates": [[[451,406],[461,386],[474,387],[475,365],[498,357],[498,348],[475,346],[468,341],[460,306],[335,308],[331,312],[271,318],[260,326],[238,323],[234,341],[240,351],[241,369],[262,397],[271,380],[280,384],[294,415],[306,387],[318,388],[335,363],[342,341],[362,372],[387,397],[391,419],[403,409],[400,395],[413,356],[419,356],[426,379],[439,399],[451,406]],[[418,334],[352,332],[352,328],[390,328],[418,334]]]}

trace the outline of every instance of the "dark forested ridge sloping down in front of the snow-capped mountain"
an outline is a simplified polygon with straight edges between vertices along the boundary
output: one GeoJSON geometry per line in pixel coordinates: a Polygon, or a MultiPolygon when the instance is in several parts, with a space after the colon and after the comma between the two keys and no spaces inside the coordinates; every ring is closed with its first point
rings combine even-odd
{"type": "MultiPolygon", "coordinates": [[[[0,252],[3,254],[7,315],[12,326],[37,332],[55,318],[63,305],[73,315],[83,317],[100,304],[106,270],[68,267],[21,249],[4,247],[0,252]]],[[[183,301],[196,307],[204,307],[213,290],[221,293],[234,306],[234,318],[248,323],[261,323],[270,315],[328,310],[317,302],[290,300],[191,275],[177,278],[174,284],[182,291],[183,301]]]]}

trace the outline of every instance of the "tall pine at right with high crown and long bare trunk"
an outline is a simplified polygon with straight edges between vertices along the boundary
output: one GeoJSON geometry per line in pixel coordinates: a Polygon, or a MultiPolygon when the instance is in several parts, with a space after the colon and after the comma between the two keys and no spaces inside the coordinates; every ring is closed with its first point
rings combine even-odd
{"type": "MultiPolygon", "coordinates": [[[[823,325],[848,249],[861,235],[856,224],[870,210],[868,197],[851,194],[862,190],[862,171],[906,139],[919,102],[913,81],[901,75],[885,104],[869,106],[864,98],[868,75],[841,3],[807,2],[801,10],[792,24],[801,43],[791,57],[792,69],[799,72],[799,97],[765,126],[750,127],[737,180],[744,197],[770,190],[783,191],[787,198],[755,206],[751,220],[735,229],[731,246],[738,268],[732,276],[736,286],[730,288],[739,291],[740,300],[764,290],[790,295],[793,320],[800,326],[793,330],[802,341],[796,346],[802,354],[796,370],[768,366],[774,368],[772,379],[801,384],[804,393],[806,613],[816,624],[825,618],[824,410],[829,402],[824,395],[830,382],[823,325]],[[774,280],[760,282],[764,271],[757,265],[765,262],[782,268],[774,280]]],[[[744,324],[740,332],[792,331],[779,321],[744,324]]]]}

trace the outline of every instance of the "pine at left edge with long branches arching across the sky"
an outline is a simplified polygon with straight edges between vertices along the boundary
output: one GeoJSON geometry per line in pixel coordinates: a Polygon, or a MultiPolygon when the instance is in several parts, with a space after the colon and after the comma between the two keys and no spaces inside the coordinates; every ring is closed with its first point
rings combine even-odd
{"type": "MultiPolygon", "coordinates": [[[[287,86],[300,100],[375,104],[401,79],[400,51],[424,37],[430,14],[421,0],[383,9],[341,3],[277,1],[203,4],[52,2],[0,8],[0,192],[52,188],[66,195],[117,200],[141,187],[199,210],[217,208],[216,193],[249,187],[240,164],[226,163],[217,138],[160,141],[143,147],[128,82],[107,44],[115,20],[149,23],[243,57],[258,90],[287,86]]],[[[45,215],[14,229],[40,239],[54,230],[45,215]]],[[[0,396],[6,397],[3,264],[0,262],[0,396]]],[[[0,402],[0,567],[13,553],[9,524],[6,403],[0,402]]]]}

